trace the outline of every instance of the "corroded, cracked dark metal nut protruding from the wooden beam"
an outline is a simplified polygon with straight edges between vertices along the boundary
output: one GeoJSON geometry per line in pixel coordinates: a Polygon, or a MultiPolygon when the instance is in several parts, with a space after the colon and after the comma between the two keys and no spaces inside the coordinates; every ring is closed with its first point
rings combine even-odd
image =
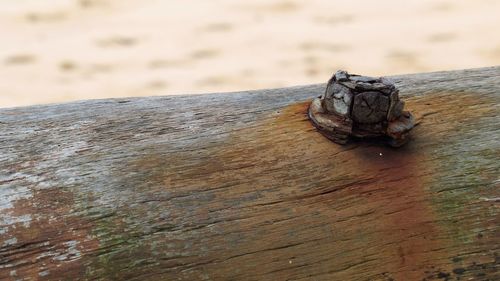
{"type": "Polygon", "coordinates": [[[415,126],[391,80],[342,70],[328,81],[325,93],[312,101],[309,118],[324,136],[340,144],[347,143],[350,136],[383,136],[389,145],[399,147],[415,126]]]}

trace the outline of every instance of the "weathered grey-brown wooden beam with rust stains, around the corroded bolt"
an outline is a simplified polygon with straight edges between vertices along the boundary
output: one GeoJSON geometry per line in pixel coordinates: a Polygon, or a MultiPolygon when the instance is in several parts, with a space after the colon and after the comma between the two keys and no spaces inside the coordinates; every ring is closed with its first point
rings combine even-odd
{"type": "Polygon", "coordinates": [[[324,84],[0,110],[1,280],[499,280],[500,67],[394,77],[392,149],[324,84]]]}

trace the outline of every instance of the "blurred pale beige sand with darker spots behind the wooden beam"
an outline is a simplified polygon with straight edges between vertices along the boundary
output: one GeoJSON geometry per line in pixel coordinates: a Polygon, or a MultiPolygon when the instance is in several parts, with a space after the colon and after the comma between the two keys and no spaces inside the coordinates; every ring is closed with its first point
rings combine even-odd
{"type": "Polygon", "coordinates": [[[0,107],[500,64],[497,0],[0,0],[0,107]]]}

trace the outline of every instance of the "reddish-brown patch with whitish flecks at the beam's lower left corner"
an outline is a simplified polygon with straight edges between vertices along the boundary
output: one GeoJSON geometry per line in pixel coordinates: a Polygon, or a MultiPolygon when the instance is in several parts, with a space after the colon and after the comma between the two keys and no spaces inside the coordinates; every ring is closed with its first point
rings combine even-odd
{"type": "Polygon", "coordinates": [[[41,189],[29,199],[15,201],[12,217],[28,216],[0,235],[15,239],[13,246],[1,250],[1,280],[77,280],[85,275],[87,254],[99,247],[92,237],[88,219],[72,215],[73,193],[60,188],[41,189]]]}

